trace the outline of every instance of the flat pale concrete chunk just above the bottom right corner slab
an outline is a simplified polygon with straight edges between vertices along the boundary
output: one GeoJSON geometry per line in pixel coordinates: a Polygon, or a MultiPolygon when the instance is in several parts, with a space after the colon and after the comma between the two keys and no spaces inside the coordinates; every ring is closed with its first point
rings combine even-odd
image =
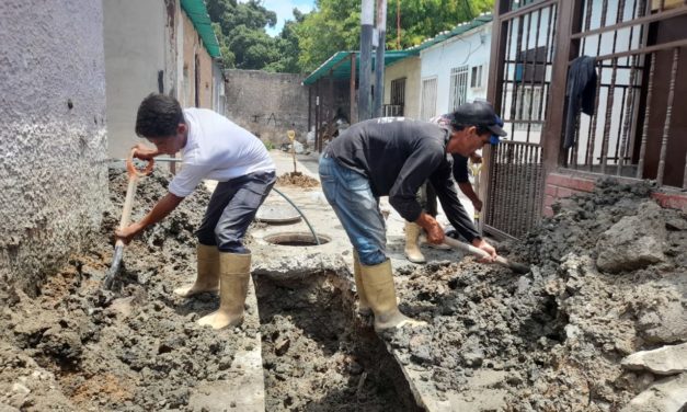
{"type": "Polygon", "coordinates": [[[622,359],[627,369],[649,369],[656,375],[675,375],[687,371],[687,343],[642,351],[622,359]]]}

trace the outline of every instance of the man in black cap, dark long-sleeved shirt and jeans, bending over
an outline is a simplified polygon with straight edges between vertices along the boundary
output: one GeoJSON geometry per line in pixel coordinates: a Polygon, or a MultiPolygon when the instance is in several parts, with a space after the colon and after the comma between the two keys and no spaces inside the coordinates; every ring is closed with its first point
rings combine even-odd
{"type": "Polygon", "coordinates": [[[403,218],[426,230],[431,243],[442,243],[444,230],[415,198],[428,180],[456,230],[493,260],[494,248],[470,231],[473,226],[458,201],[446,154],[469,156],[505,135],[491,105],[476,102],[459,106],[450,127],[402,117],[375,118],[351,126],[327,147],[320,159],[322,190],[353,243],[360,309],[373,310],[376,330],[422,323],[398,309],[379,197],[388,195],[403,218]]]}

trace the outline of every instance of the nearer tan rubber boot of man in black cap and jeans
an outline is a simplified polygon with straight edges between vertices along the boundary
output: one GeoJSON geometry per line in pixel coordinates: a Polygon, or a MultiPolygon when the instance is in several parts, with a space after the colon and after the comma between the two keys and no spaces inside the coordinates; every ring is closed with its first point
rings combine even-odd
{"type": "Polygon", "coordinates": [[[363,287],[373,312],[375,313],[375,330],[382,331],[391,328],[402,328],[405,325],[420,327],[426,322],[411,319],[399,310],[396,300],[396,287],[393,286],[393,274],[391,262],[385,262],[366,266],[360,265],[363,287]]]}

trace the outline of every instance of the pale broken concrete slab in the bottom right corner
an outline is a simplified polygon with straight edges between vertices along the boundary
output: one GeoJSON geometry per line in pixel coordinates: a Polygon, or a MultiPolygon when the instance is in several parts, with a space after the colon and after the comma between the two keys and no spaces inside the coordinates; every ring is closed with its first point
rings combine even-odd
{"type": "Polygon", "coordinates": [[[656,381],[621,412],[678,412],[687,403],[687,374],[656,381]]]}

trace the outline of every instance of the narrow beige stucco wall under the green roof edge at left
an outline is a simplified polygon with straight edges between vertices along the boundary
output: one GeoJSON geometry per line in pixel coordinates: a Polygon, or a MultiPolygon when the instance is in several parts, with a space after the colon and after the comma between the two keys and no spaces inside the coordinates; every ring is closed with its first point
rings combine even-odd
{"type": "Polygon", "coordinates": [[[213,59],[203,46],[198,33],[193,27],[191,19],[182,12],[183,20],[183,99],[180,100],[182,106],[192,107],[196,105],[195,100],[195,76],[196,55],[198,56],[199,82],[198,82],[198,107],[213,108],[213,59]]]}

